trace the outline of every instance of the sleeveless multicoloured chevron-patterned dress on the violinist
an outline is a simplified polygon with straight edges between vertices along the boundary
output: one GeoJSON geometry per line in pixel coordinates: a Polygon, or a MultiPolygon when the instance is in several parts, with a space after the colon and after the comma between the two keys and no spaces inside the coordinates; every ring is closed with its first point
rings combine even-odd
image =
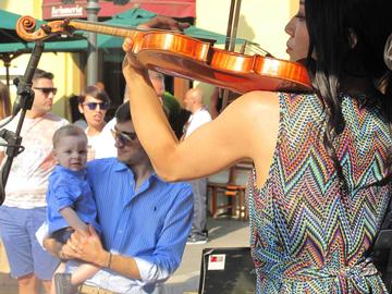
{"type": "Polygon", "coordinates": [[[380,109],[343,96],[346,127],[334,143],[348,186],[342,189],[322,143],[320,99],[279,97],[269,176],[260,188],[255,173],[249,183],[257,293],[387,293],[366,259],[392,192],[383,181],[392,138],[380,109]]]}

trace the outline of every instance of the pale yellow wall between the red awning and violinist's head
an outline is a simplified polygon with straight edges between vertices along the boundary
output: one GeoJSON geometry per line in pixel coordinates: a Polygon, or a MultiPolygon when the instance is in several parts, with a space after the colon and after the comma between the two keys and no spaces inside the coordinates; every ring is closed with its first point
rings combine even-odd
{"type": "MultiPolygon", "coordinates": [[[[294,15],[298,0],[241,1],[237,37],[260,45],[277,58],[287,59],[284,26],[294,15]]],[[[196,0],[196,26],[226,34],[231,0],[196,0]]],[[[209,97],[212,87],[196,83],[209,97]]],[[[208,99],[206,99],[208,102],[208,99]]]]}

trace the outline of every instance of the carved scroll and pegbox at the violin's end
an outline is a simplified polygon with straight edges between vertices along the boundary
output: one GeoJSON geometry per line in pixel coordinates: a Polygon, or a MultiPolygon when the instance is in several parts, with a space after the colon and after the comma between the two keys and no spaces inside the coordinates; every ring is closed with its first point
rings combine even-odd
{"type": "Polygon", "coordinates": [[[75,30],[69,25],[70,21],[53,21],[41,25],[37,30],[36,21],[34,17],[25,15],[16,22],[17,35],[26,41],[42,41],[51,38],[52,36],[69,35],[71,36],[75,30]]]}

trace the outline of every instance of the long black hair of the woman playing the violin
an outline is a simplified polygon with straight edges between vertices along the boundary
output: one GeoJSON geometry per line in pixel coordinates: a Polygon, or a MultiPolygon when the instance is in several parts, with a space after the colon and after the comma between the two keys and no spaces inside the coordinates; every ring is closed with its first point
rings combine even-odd
{"type": "Polygon", "coordinates": [[[378,103],[391,124],[392,81],[391,72],[383,61],[385,41],[392,32],[391,13],[391,0],[305,1],[309,32],[307,62],[314,87],[329,114],[323,144],[344,188],[346,182],[332,142],[345,126],[341,96],[350,88],[345,85],[345,77],[368,81],[368,93],[375,95],[366,96],[367,102],[378,103]],[[311,60],[314,52],[316,61],[311,60]],[[378,95],[381,86],[384,96],[378,95]]]}

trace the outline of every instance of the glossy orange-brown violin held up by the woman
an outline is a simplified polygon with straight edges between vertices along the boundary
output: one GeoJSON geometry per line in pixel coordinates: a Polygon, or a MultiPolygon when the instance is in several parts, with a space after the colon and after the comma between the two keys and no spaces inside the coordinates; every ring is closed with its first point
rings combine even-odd
{"type": "Polygon", "coordinates": [[[110,26],[81,20],[53,21],[35,30],[35,20],[22,16],[17,35],[27,41],[86,30],[133,39],[132,52],[147,69],[163,74],[197,79],[238,94],[252,90],[313,91],[306,68],[260,54],[243,54],[215,48],[181,32],[110,26]]]}

